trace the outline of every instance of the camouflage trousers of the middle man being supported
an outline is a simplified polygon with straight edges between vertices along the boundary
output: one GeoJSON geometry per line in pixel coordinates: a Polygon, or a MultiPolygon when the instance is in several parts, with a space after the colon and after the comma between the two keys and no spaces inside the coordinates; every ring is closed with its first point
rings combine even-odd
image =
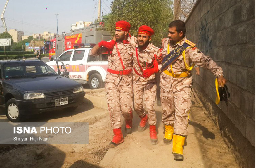
{"type": "Polygon", "coordinates": [[[155,79],[149,82],[141,82],[140,80],[136,82],[133,80],[134,110],[139,116],[143,116],[145,113],[148,113],[149,125],[156,125],[155,98],[155,79]]]}

